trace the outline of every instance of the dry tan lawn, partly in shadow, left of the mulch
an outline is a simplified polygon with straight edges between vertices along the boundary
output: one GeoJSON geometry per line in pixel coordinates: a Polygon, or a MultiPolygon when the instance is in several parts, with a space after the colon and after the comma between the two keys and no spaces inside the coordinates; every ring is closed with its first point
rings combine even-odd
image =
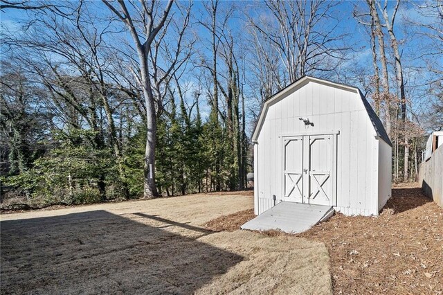
{"type": "Polygon", "coordinates": [[[322,242],[204,226],[252,206],[246,192],[0,215],[0,293],[330,294],[322,242]]]}

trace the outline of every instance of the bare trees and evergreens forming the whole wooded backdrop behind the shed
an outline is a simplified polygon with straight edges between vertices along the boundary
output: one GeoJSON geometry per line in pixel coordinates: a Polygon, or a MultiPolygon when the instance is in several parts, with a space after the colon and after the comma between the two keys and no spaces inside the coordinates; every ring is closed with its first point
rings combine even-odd
{"type": "Polygon", "coordinates": [[[82,204],[242,190],[262,101],[303,75],[358,84],[394,144],[395,180],[413,179],[424,129],[442,122],[442,3],[356,3],[370,71],[350,63],[343,3],[247,4],[2,0],[25,12],[1,31],[3,191],[82,204]],[[402,7],[423,19],[404,17],[400,38],[402,7]],[[405,56],[416,35],[427,41],[405,56]]]}

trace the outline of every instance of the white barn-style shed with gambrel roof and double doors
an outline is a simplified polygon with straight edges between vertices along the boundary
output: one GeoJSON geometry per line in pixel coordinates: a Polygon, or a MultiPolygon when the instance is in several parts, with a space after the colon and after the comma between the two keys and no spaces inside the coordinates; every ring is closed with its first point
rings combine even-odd
{"type": "Polygon", "coordinates": [[[356,87],[300,78],[265,100],[252,141],[256,215],[280,202],[378,215],[390,198],[392,145],[356,87]]]}

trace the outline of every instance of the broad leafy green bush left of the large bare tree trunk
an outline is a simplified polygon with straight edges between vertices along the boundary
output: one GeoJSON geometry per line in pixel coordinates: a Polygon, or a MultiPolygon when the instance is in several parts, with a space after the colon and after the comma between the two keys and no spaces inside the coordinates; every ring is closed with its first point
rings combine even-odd
{"type": "Polygon", "coordinates": [[[25,190],[28,199],[39,199],[44,204],[89,204],[105,200],[98,182],[115,175],[115,163],[111,150],[97,150],[89,144],[91,136],[93,132],[87,130],[58,132],[57,147],[37,159],[33,168],[8,177],[6,184],[25,190]]]}

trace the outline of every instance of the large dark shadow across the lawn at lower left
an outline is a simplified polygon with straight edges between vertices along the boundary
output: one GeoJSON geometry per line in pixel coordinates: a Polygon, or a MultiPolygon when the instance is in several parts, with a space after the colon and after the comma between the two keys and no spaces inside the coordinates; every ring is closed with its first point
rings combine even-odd
{"type": "MultiPolygon", "coordinates": [[[[138,215],[201,235],[212,233],[138,215]]],[[[0,226],[1,294],[191,294],[244,259],[107,211],[3,221],[0,226]]]]}

